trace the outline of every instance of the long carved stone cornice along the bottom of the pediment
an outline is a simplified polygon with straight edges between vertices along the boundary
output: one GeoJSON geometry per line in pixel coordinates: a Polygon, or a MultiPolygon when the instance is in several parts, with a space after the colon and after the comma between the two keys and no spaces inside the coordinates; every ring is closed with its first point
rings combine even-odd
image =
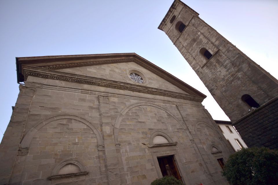
{"type": "Polygon", "coordinates": [[[173,91],[166,91],[163,89],[156,89],[156,88],[134,85],[134,84],[124,83],[124,82],[100,79],[96,77],[59,72],[54,70],[38,68],[34,66],[22,66],[22,67],[23,67],[23,74],[25,79],[27,79],[28,76],[36,76],[36,77],[46,78],[46,79],[55,79],[55,80],[62,80],[62,81],[68,81],[74,83],[97,85],[101,87],[108,87],[108,88],[127,90],[127,91],[152,94],[158,96],[166,96],[166,97],[178,98],[183,100],[191,100],[196,102],[203,101],[203,98],[200,98],[198,96],[176,93],[173,91]]]}

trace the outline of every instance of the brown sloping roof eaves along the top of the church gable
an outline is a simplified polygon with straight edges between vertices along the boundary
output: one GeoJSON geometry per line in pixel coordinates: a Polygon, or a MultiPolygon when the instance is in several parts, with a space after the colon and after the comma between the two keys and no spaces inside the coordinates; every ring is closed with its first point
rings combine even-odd
{"type": "Polygon", "coordinates": [[[58,56],[41,56],[41,57],[16,57],[17,65],[17,81],[24,81],[24,73],[22,65],[35,66],[47,69],[60,69],[71,68],[88,65],[100,65],[107,63],[119,63],[119,62],[135,62],[138,65],[146,68],[154,74],[160,76],[162,79],[172,83],[183,91],[190,92],[200,98],[206,98],[206,95],[202,94],[197,89],[194,89],[190,85],[184,83],[180,79],[166,72],[162,68],[156,66],[150,61],[140,57],[136,53],[111,53],[111,54],[92,54],[92,55],[58,55],[58,56]]]}

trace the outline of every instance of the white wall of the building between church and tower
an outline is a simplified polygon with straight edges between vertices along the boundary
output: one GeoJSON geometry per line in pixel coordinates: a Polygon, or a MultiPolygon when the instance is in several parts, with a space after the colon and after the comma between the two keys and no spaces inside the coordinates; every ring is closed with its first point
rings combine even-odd
{"type": "Polygon", "coordinates": [[[227,139],[227,141],[229,143],[231,143],[231,145],[235,151],[241,149],[240,146],[235,141],[235,139],[238,139],[239,143],[243,147],[245,147],[245,148],[247,147],[247,145],[244,143],[244,141],[242,140],[242,138],[240,137],[240,135],[237,133],[237,131],[235,130],[235,128],[233,126],[228,125],[228,124],[217,124],[217,125],[221,128],[222,134],[227,139]],[[231,129],[232,133],[228,130],[227,126],[231,129]]]}

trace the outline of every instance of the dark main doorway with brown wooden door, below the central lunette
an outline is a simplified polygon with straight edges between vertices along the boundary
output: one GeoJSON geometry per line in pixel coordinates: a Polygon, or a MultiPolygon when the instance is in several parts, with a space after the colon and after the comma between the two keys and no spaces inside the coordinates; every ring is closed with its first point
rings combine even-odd
{"type": "Polygon", "coordinates": [[[182,180],[178,171],[174,156],[164,156],[157,158],[162,176],[174,176],[178,180],[182,180]]]}

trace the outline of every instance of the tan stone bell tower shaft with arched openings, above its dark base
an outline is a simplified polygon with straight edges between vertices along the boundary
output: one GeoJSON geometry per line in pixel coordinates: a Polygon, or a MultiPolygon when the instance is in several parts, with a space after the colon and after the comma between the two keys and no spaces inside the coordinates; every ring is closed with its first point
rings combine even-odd
{"type": "Polygon", "coordinates": [[[173,2],[158,29],[168,35],[232,122],[278,96],[277,79],[182,1],[173,2]]]}

